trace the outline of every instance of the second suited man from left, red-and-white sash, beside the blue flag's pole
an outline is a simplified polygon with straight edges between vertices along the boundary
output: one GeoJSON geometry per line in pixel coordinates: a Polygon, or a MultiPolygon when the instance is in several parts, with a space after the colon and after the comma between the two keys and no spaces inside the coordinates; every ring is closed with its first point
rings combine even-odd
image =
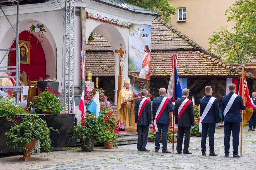
{"type": "Polygon", "coordinates": [[[160,135],[162,132],[162,152],[170,153],[167,149],[167,131],[169,128],[170,118],[169,112],[172,112],[174,109],[174,105],[172,105],[171,99],[166,96],[166,89],[159,89],[159,97],[153,99],[153,130],[156,132],[156,140],[155,140],[155,152],[158,152],[160,149],[160,135]]]}

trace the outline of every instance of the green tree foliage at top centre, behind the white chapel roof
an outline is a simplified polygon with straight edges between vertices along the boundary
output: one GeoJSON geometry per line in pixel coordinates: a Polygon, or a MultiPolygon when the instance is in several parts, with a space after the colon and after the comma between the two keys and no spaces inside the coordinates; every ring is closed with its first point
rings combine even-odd
{"type": "Polygon", "coordinates": [[[150,11],[161,14],[161,18],[169,23],[171,16],[174,15],[177,8],[169,3],[169,0],[125,0],[125,2],[145,8],[150,11]]]}

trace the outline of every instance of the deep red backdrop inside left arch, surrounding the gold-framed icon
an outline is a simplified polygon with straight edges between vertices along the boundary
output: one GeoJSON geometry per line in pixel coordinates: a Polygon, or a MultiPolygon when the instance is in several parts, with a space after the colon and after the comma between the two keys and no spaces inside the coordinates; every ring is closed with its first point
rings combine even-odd
{"type": "MultiPolygon", "coordinates": [[[[21,32],[19,40],[29,41],[29,32],[21,32]]],[[[34,35],[31,35],[30,47],[30,64],[20,64],[20,73],[25,71],[29,75],[29,80],[38,79],[39,77],[44,79],[46,73],[45,55],[40,42],[34,35]]],[[[11,48],[16,48],[16,41],[14,41],[11,48]]],[[[16,51],[10,51],[10,59],[10,66],[15,66],[16,51]]]]}

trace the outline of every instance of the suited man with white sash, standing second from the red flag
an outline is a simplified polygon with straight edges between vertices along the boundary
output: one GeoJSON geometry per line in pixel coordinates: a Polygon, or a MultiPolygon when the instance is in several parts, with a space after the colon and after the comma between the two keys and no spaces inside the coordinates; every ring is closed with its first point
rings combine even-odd
{"type": "Polygon", "coordinates": [[[202,155],[205,156],[206,153],[206,138],[207,132],[209,130],[209,147],[210,155],[217,156],[214,152],[214,133],[215,128],[219,125],[219,102],[218,99],[212,97],[212,87],[206,86],[204,88],[206,96],[200,100],[200,122],[199,122],[199,132],[202,132],[201,139],[201,151],[202,155]]]}

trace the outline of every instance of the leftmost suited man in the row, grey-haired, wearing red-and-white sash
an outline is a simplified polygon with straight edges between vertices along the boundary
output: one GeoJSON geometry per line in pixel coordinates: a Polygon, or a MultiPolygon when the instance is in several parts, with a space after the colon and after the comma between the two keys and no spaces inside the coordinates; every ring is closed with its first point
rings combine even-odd
{"type": "Polygon", "coordinates": [[[135,123],[138,132],[138,151],[150,151],[146,149],[148,126],[151,124],[151,100],[147,99],[147,90],[141,90],[141,98],[135,101],[135,123]]]}

